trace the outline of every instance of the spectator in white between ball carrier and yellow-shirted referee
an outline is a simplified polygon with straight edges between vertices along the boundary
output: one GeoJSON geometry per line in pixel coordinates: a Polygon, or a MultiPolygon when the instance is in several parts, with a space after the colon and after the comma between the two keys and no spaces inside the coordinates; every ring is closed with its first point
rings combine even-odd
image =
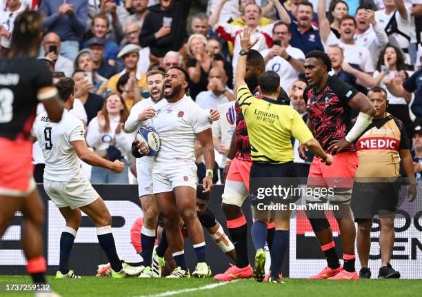
{"type": "Polygon", "coordinates": [[[217,150],[215,158],[220,159],[218,162],[220,169],[221,183],[225,183],[223,176],[223,170],[225,167],[225,160],[230,149],[230,142],[232,141],[232,135],[236,128],[236,111],[234,110],[234,103],[236,101],[230,101],[219,105],[218,109],[220,114],[223,116],[219,121],[212,123],[212,142],[214,143],[214,149],[217,150]],[[224,116],[225,115],[225,116],[224,116]]]}

